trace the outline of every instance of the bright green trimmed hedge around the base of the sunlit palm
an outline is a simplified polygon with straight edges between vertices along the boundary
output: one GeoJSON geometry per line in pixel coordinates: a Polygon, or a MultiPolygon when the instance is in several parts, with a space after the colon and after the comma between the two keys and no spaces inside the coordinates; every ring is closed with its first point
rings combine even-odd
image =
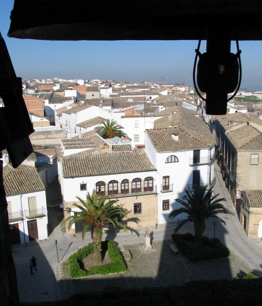
{"type": "Polygon", "coordinates": [[[91,267],[88,271],[82,270],[79,266],[79,262],[88,255],[94,253],[93,243],[89,243],[68,258],[67,263],[70,270],[70,277],[77,278],[93,274],[109,274],[126,271],[126,265],[124,263],[123,256],[119,251],[115,241],[102,241],[102,248],[107,248],[111,263],[107,263],[102,266],[91,267]]]}

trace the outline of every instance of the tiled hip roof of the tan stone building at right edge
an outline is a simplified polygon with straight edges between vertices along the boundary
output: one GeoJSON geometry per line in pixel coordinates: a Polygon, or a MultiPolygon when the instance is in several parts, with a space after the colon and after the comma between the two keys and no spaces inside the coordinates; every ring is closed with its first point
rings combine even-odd
{"type": "Polygon", "coordinates": [[[237,150],[262,150],[262,133],[251,125],[245,125],[226,136],[237,150]]]}

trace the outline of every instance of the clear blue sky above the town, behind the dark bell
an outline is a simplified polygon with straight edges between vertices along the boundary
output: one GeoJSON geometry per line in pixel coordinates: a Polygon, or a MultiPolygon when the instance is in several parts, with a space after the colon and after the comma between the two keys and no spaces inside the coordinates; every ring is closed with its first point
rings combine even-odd
{"type": "MultiPolygon", "coordinates": [[[[0,32],[16,75],[30,78],[111,79],[193,86],[197,41],[41,41],[8,38],[13,0],[0,0],[0,32]]],[[[25,16],[27,18],[27,16],[25,16]]],[[[262,42],[240,41],[241,88],[262,90],[262,42]]],[[[201,53],[206,42],[201,44],[201,53]]],[[[236,53],[235,42],[231,52],[236,53]]]]}

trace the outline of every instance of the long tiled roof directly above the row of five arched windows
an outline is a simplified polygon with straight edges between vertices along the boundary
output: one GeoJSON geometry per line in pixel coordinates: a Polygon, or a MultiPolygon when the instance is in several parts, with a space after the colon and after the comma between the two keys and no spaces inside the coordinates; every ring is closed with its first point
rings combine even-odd
{"type": "Polygon", "coordinates": [[[144,150],[112,151],[110,147],[64,157],[62,166],[64,177],[156,171],[144,150]]]}

